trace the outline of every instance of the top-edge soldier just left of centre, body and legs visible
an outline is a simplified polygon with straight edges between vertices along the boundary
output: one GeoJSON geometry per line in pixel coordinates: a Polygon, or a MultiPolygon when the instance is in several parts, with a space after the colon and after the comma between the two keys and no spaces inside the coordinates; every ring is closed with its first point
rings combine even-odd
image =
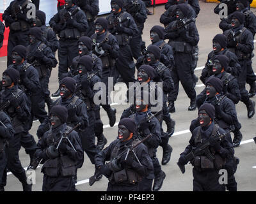
{"type": "Polygon", "coordinates": [[[135,64],[132,59],[130,38],[138,33],[137,25],[132,16],[123,10],[122,0],[111,0],[111,14],[106,18],[108,20],[108,31],[113,34],[119,45],[119,56],[116,61],[116,70],[114,84],[120,74],[125,84],[134,82],[135,64]]]}

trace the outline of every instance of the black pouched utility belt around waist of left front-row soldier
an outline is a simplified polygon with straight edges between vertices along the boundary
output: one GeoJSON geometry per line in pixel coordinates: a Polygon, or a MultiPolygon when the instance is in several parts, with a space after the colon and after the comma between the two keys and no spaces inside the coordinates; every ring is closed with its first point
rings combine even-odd
{"type": "Polygon", "coordinates": [[[76,175],[76,162],[70,157],[61,156],[55,159],[47,159],[42,172],[48,177],[72,177],[76,175]]]}

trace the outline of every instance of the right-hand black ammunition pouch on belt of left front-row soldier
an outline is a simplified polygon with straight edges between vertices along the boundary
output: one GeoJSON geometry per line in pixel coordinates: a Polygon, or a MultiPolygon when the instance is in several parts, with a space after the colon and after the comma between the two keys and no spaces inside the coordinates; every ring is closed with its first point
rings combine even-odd
{"type": "Polygon", "coordinates": [[[62,177],[71,177],[76,176],[76,162],[68,156],[60,157],[61,161],[61,176],[62,177]]]}

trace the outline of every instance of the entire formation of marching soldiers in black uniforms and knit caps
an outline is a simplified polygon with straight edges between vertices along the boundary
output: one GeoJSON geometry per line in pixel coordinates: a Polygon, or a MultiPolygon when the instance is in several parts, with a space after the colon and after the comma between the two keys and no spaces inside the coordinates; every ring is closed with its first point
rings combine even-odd
{"type": "MultiPolygon", "coordinates": [[[[148,1],[111,0],[111,14],[106,18],[97,17],[97,0],[59,1],[50,27],[45,25],[44,11],[37,10],[36,18],[26,17],[28,3],[12,1],[3,14],[10,35],[8,68],[0,92],[1,191],[7,171],[19,179],[24,191],[32,189],[19,160],[21,146],[30,157],[28,170],[43,164],[43,191],[76,191],[84,152],[95,164],[90,186],[104,175],[109,179],[107,191],[159,191],[166,177],[161,164],[170,161],[173,150],[168,144],[175,129],[170,113],[176,111],[179,82],[190,99],[188,110],[198,108],[198,117],[190,126],[189,145],[180,154],[180,170],[184,173],[189,161],[194,166],[194,191],[237,190],[234,173],[239,159],[234,147],[243,136],[236,104],[242,101],[246,105],[248,118],[255,114],[255,102],[250,98],[256,93],[252,69],[256,17],[249,1],[221,1],[227,3],[228,18],[220,22],[223,34],[212,40],[213,50],[200,77],[205,89],[198,96],[194,74],[199,52],[197,0],[168,0],[160,18],[164,26],[150,29],[152,44],[147,47],[141,35],[147,15],[151,15],[148,1]],[[53,101],[49,78],[57,64],[60,86],[52,94],[57,98],[53,101]],[[108,140],[100,106],[108,114],[109,125],[116,122],[116,109],[109,105],[109,77],[114,85],[127,85],[127,101],[132,93],[136,97],[122,113],[118,137],[104,149],[108,140]],[[106,88],[93,89],[99,82],[106,88]],[[136,83],[129,87],[129,82],[136,83]],[[152,82],[163,86],[152,87],[152,82]],[[138,87],[140,91],[136,91],[138,87]],[[150,103],[152,93],[163,104],[158,109],[150,103]],[[106,96],[105,104],[95,103],[99,94],[106,96]],[[29,134],[34,119],[40,121],[38,143],[29,134]],[[202,145],[205,149],[196,151],[202,145]],[[159,146],[163,148],[161,164],[156,156],[159,146]],[[227,185],[218,183],[221,168],[228,171],[227,185]]],[[[214,12],[220,12],[218,6],[214,12]]]]}

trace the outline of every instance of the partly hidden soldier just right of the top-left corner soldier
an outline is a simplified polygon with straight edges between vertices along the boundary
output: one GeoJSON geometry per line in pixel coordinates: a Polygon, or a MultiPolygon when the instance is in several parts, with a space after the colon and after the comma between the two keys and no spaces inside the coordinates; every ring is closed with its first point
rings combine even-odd
{"type": "Polygon", "coordinates": [[[42,41],[51,48],[52,52],[55,55],[55,52],[60,46],[60,43],[57,39],[56,33],[52,31],[51,28],[46,27],[45,25],[46,16],[44,11],[36,11],[36,19],[33,21],[33,27],[40,27],[43,33],[42,41]]]}

